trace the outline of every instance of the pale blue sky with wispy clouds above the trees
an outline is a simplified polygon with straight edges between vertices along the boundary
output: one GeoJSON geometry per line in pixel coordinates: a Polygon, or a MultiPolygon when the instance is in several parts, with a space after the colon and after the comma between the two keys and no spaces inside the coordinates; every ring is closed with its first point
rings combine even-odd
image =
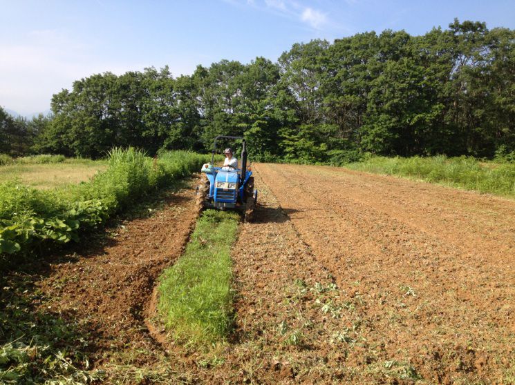
{"type": "Polygon", "coordinates": [[[75,79],[221,59],[273,61],[293,43],[384,29],[424,34],[458,17],[515,29],[515,0],[0,0],[0,106],[29,114],[75,79]]]}

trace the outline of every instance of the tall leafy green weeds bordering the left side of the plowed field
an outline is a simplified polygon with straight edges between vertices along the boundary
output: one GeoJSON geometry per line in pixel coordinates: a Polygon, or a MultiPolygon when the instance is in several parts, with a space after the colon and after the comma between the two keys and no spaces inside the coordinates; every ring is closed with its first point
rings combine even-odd
{"type": "Polygon", "coordinates": [[[19,181],[0,183],[0,255],[41,244],[78,241],[142,195],[199,170],[206,155],[180,152],[147,157],[135,148],[113,149],[109,166],[91,181],[37,190],[19,181]]]}

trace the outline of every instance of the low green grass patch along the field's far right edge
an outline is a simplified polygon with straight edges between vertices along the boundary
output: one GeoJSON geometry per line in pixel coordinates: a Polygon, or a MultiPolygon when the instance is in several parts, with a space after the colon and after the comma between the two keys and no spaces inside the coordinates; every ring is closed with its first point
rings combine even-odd
{"type": "Polygon", "coordinates": [[[515,197],[515,164],[512,163],[497,164],[472,157],[440,155],[427,158],[371,157],[345,167],[515,197]]]}

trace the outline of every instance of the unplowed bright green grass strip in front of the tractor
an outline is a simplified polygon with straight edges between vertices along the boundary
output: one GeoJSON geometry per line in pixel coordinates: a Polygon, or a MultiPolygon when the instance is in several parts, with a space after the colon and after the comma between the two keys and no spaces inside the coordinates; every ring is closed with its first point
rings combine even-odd
{"type": "Polygon", "coordinates": [[[160,277],[158,310],[178,342],[214,344],[232,328],[230,253],[238,219],[234,212],[205,210],[184,255],[160,277]]]}

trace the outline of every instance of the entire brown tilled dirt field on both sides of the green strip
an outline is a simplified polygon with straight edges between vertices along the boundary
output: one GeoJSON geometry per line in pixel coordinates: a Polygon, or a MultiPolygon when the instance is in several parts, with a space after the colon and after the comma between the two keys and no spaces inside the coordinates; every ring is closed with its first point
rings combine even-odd
{"type": "Polygon", "coordinates": [[[106,382],[515,382],[515,201],[341,168],[254,170],[227,344],[196,352],[152,326],[156,278],[194,224],[192,188],[41,277],[51,306],[87,319],[106,382]]]}

